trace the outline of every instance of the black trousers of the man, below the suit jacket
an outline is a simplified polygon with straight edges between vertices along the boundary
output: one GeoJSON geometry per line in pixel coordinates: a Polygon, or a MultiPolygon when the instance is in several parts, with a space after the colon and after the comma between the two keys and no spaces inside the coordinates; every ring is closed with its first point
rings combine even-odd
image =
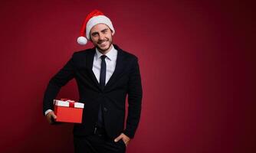
{"type": "Polygon", "coordinates": [[[97,132],[87,136],[74,135],[75,153],[125,153],[126,145],[123,140],[114,142],[113,139],[97,132]]]}

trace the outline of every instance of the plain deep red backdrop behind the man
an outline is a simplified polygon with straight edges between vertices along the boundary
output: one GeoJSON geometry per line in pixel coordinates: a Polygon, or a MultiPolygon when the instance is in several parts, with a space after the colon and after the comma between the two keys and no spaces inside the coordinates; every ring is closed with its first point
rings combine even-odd
{"type": "MultiPolygon", "coordinates": [[[[2,1],[1,152],[73,152],[72,125],[48,125],[50,78],[98,8],[139,57],[143,112],[128,153],[256,152],[252,2],[2,1]]],[[[255,50],[254,50],[255,51],[255,50]]],[[[59,97],[78,99],[74,80],[59,97]]]]}

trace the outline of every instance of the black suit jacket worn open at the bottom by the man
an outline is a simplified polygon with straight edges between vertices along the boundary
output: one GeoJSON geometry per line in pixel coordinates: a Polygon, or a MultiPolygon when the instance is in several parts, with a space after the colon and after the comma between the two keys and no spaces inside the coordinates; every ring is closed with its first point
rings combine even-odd
{"type": "Polygon", "coordinates": [[[85,103],[81,124],[74,124],[74,135],[89,135],[94,132],[100,104],[103,106],[104,125],[107,135],[116,138],[123,132],[134,137],[139,124],[142,100],[142,86],[138,59],[121,50],[117,45],[117,64],[103,90],[92,70],[95,47],[75,52],[66,65],[51,78],[44,93],[43,113],[54,109],[53,99],[69,80],[77,81],[79,102],[85,103]],[[125,121],[125,103],[128,95],[128,116],[125,121]]]}

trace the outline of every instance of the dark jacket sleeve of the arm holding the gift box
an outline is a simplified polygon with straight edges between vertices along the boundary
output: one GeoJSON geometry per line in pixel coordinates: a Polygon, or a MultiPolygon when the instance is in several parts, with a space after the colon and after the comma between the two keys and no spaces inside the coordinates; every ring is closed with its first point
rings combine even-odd
{"type": "Polygon", "coordinates": [[[61,87],[67,84],[67,82],[74,78],[74,61],[73,58],[67,61],[64,67],[59,70],[54,77],[48,83],[48,86],[44,92],[43,100],[43,114],[46,110],[54,110],[53,99],[56,98],[57,93],[61,90],[61,87]]]}

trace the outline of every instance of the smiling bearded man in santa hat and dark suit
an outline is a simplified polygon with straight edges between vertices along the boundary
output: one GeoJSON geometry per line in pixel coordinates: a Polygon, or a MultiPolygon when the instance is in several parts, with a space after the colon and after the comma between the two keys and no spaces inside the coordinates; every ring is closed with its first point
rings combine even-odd
{"type": "MultiPolygon", "coordinates": [[[[94,10],[81,28],[79,44],[87,39],[94,48],[78,51],[50,80],[44,94],[44,115],[49,123],[57,119],[53,99],[61,86],[75,79],[79,102],[85,103],[81,124],[74,124],[75,152],[125,152],[139,124],[142,86],[138,59],[113,44],[115,30],[109,18],[94,10]],[[125,102],[128,95],[128,116],[125,102]]],[[[72,116],[72,115],[71,115],[72,116]]]]}

